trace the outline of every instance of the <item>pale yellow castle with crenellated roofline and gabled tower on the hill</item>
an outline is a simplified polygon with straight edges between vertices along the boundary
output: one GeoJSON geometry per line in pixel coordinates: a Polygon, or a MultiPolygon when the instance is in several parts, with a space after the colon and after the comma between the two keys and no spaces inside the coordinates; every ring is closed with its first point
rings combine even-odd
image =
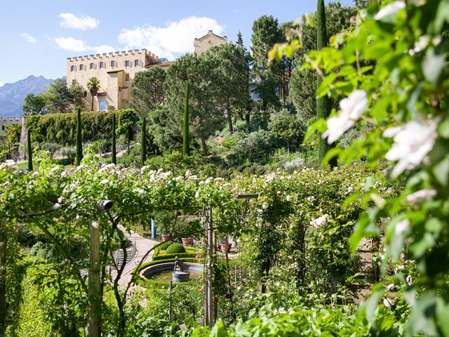
{"type": "MultiPolygon", "coordinates": [[[[227,37],[220,37],[209,30],[208,34],[194,40],[194,49],[201,55],[212,46],[227,43],[227,37]]],[[[173,62],[159,59],[147,49],[133,51],[115,51],[113,53],[92,54],[67,58],[67,85],[76,80],[84,88],[85,108],[93,111],[107,110],[112,105],[115,109],[126,109],[130,99],[131,81],[135,74],[150,67],[166,69],[173,62]],[[92,97],[88,91],[88,81],[92,77],[100,80],[100,90],[92,97]]]]}

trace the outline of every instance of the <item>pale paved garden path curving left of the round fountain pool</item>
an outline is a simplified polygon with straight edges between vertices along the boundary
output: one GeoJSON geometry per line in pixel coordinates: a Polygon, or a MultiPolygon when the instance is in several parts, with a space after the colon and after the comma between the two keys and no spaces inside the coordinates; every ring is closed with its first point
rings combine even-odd
{"type": "MultiPolygon", "coordinates": [[[[140,263],[142,258],[145,256],[147,251],[153,248],[155,244],[158,244],[159,242],[156,242],[154,240],[146,239],[145,237],[140,236],[138,233],[133,232],[130,230],[129,232],[125,230],[124,227],[119,225],[120,230],[125,233],[126,237],[130,240],[131,244],[135,247],[135,253],[134,257],[129,260],[128,263],[126,263],[125,270],[123,271],[123,274],[121,275],[121,278],[119,280],[119,285],[126,285],[128,282],[130,282],[131,279],[131,272],[133,272],[134,268],[140,263]]],[[[148,256],[143,261],[149,262],[152,260],[153,252],[149,253],[148,256]]],[[[115,271],[112,271],[112,279],[114,279],[116,275],[115,271]]]]}

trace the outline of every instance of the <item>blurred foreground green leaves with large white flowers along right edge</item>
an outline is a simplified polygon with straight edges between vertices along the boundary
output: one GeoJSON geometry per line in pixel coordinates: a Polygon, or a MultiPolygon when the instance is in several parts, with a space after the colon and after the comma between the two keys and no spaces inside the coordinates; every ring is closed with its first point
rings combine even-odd
{"type": "Polygon", "coordinates": [[[347,96],[340,111],[317,121],[312,131],[333,143],[354,124],[368,126],[363,138],[327,159],[363,159],[369,166],[387,159],[394,162],[389,178],[404,185],[397,198],[370,195],[375,204],[361,216],[351,242],[355,249],[361,238],[384,234],[385,279],[389,261],[401,268],[386,280],[392,286],[376,289],[366,310],[373,319],[382,296],[387,305],[405,299],[413,308],[409,335],[448,335],[447,7],[438,0],[373,3],[353,31],[308,56],[308,67],[323,77],[317,93],[347,96]],[[395,284],[403,286],[397,296],[395,284]]]}

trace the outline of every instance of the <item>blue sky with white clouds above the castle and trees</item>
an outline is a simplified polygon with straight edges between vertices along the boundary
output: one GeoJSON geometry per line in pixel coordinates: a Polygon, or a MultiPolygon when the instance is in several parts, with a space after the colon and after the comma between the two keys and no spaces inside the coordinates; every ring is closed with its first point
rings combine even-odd
{"type": "Polygon", "coordinates": [[[240,30],[249,47],[251,26],[261,15],[285,22],[315,8],[316,0],[6,1],[0,11],[0,85],[30,74],[62,77],[70,56],[147,47],[173,59],[192,51],[193,38],[208,29],[231,41],[240,30]]]}

